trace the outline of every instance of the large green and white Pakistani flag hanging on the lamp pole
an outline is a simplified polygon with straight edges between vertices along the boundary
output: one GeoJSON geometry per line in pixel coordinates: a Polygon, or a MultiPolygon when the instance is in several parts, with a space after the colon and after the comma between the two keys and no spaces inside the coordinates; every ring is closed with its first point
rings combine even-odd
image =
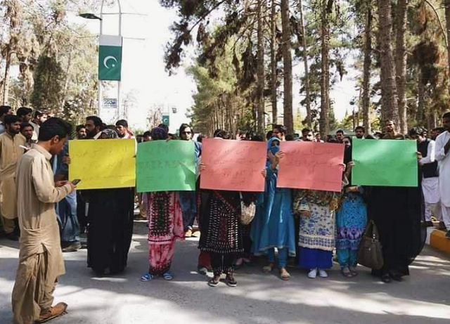
{"type": "Polygon", "coordinates": [[[100,35],[98,79],[120,81],[122,69],[122,37],[100,35]]]}

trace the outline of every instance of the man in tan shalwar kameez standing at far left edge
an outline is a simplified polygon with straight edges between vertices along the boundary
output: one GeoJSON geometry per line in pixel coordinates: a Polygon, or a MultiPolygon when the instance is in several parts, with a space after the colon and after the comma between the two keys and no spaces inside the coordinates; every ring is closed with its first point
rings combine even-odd
{"type": "Polygon", "coordinates": [[[6,132],[0,135],[0,207],[6,237],[18,240],[17,195],[15,192],[15,167],[22,157],[25,137],[20,134],[20,122],[15,115],[4,118],[6,132]]]}

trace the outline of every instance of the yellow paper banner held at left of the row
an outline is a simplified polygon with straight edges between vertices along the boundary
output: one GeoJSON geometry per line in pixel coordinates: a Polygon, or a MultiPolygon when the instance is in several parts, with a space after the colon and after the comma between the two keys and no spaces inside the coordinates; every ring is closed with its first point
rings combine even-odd
{"type": "Polygon", "coordinates": [[[136,186],[135,145],[132,138],[70,141],[70,181],[81,179],[81,190],[136,186]]]}

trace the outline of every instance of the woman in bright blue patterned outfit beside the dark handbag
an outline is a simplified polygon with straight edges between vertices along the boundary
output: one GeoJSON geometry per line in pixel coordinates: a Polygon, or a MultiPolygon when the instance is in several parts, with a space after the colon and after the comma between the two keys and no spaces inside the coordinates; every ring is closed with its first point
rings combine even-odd
{"type": "MultiPolygon", "coordinates": [[[[345,141],[345,138],[344,138],[345,141]]],[[[350,179],[354,162],[347,164],[345,176],[350,179]]],[[[358,273],[358,248],[364,235],[367,223],[367,207],[361,186],[345,186],[344,197],[338,212],[336,212],[336,254],[342,276],[352,278],[358,273]]]]}

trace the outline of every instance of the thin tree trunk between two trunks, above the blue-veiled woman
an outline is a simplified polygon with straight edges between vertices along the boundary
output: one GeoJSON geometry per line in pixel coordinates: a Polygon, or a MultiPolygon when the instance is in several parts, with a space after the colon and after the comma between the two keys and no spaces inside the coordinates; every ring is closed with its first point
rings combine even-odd
{"type": "Polygon", "coordinates": [[[272,123],[278,124],[278,107],[277,107],[277,95],[276,95],[276,83],[278,78],[276,77],[276,4],[275,0],[271,3],[270,14],[270,93],[272,103],[272,123]]]}

